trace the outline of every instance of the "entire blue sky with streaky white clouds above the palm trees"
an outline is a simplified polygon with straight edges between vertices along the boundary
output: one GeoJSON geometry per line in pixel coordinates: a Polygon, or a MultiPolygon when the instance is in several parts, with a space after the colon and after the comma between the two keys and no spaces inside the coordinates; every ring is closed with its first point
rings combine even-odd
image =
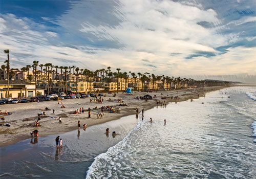
{"type": "Polygon", "coordinates": [[[0,50],[12,68],[38,60],[256,83],[255,10],[253,0],[0,0],[0,50]]]}

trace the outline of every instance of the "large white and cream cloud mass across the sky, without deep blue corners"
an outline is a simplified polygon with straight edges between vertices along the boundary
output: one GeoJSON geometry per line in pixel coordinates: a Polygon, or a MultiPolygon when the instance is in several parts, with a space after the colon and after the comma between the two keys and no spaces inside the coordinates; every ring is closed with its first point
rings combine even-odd
{"type": "MultiPolygon", "coordinates": [[[[41,17],[61,27],[61,35],[28,18],[2,15],[0,49],[10,49],[11,58],[23,63],[31,63],[36,58],[40,63],[76,64],[90,70],[112,66],[112,69],[120,67],[121,71],[168,76],[255,73],[252,68],[256,66],[255,48],[230,48],[222,55],[215,50],[238,41],[240,33],[219,33],[220,28],[226,26],[221,25],[217,12],[212,9],[204,10],[201,5],[191,6],[191,3],[150,0],[122,0],[109,8],[110,2],[104,2],[105,7],[98,9],[88,8],[88,2],[76,2],[55,20],[41,17]],[[84,8],[98,19],[84,15],[84,8]],[[204,28],[198,25],[202,21],[215,26],[204,28]],[[63,40],[65,35],[72,34],[77,39],[68,43],[63,40]],[[77,43],[80,39],[92,43],[77,43]],[[218,56],[186,59],[199,52],[218,56]]],[[[252,20],[255,19],[245,18],[232,23],[252,20]]],[[[0,57],[6,58],[2,53],[0,57]]]]}

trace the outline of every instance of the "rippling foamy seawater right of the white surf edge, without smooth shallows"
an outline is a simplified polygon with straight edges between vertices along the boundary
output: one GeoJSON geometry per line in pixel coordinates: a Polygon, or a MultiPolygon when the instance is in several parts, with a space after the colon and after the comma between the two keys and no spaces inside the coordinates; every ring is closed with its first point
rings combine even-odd
{"type": "Polygon", "coordinates": [[[86,178],[256,178],[250,91],[232,87],[145,111],[128,136],[95,158],[86,178]]]}

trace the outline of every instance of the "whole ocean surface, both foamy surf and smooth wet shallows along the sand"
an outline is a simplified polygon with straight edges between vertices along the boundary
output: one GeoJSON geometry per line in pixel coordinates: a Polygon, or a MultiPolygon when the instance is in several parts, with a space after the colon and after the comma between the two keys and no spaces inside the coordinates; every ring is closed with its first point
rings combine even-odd
{"type": "Polygon", "coordinates": [[[1,147],[2,178],[256,178],[255,87],[1,147]],[[249,94],[249,95],[248,95],[249,94]],[[153,119],[153,123],[150,122],[153,119]],[[166,119],[166,125],[164,125],[166,119]],[[106,127],[118,135],[106,136],[106,127]]]}

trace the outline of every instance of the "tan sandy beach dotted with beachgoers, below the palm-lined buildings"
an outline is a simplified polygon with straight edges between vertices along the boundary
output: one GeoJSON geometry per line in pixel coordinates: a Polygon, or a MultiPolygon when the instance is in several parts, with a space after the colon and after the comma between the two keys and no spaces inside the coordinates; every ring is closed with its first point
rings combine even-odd
{"type": "MultiPolygon", "coordinates": [[[[19,103],[19,104],[8,104],[1,105],[0,110],[11,112],[12,115],[5,116],[5,123],[9,123],[11,126],[0,126],[0,141],[1,146],[6,146],[14,144],[18,141],[30,138],[30,132],[37,129],[39,131],[39,137],[48,136],[53,134],[59,134],[67,131],[77,129],[78,120],[81,121],[81,126],[86,123],[87,126],[92,126],[95,124],[105,123],[111,120],[119,119],[123,116],[128,116],[136,114],[136,107],[139,111],[144,108],[144,110],[150,109],[156,106],[156,100],[166,103],[168,102],[179,102],[189,99],[196,99],[199,96],[204,96],[207,92],[216,91],[224,88],[224,86],[214,86],[214,87],[204,87],[204,88],[184,88],[177,91],[159,91],[153,93],[146,92],[135,92],[133,94],[116,93],[116,97],[112,94],[105,94],[103,97],[104,103],[90,102],[90,98],[81,99],[67,99],[60,100],[66,108],[61,108],[61,104],[58,101],[44,101],[44,102],[33,102],[33,103],[19,103]],[[144,96],[146,94],[152,97],[156,95],[157,97],[153,100],[138,100],[135,99],[137,96],[144,96]],[[178,99],[161,99],[162,97],[178,96],[178,99]],[[109,99],[111,98],[111,101],[109,99]],[[92,110],[91,118],[88,118],[88,108],[91,109],[100,108],[101,106],[114,106],[115,110],[119,107],[118,99],[121,98],[127,106],[120,106],[120,113],[110,113],[110,111],[105,111],[102,118],[97,118],[97,113],[100,111],[92,110]],[[79,103],[79,104],[77,104],[79,103]],[[37,120],[37,114],[41,112],[41,108],[48,107],[51,110],[45,111],[46,116],[40,116],[41,126],[35,127],[34,121],[37,120]],[[83,107],[86,111],[83,114],[71,114],[76,109],[83,107]],[[55,109],[55,114],[53,110],[55,109]],[[58,118],[62,118],[62,124],[59,124],[58,118]]],[[[93,99],[93,98],[91,98],[93,99]]]]}

